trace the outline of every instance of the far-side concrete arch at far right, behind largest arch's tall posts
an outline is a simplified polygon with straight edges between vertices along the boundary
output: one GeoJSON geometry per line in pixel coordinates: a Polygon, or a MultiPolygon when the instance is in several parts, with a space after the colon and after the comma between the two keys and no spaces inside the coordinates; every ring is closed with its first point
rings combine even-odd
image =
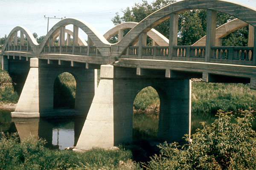
{"type": "MultiPolygon", "coordinates": [[[[219,26],[218,28],[216,28],[216,40],[224,38],[228,34],[238,30],[239,28],[247,26],[247,25],[248,25],[248,23],[246,23],[242,20],[239,20],[237,18],[234,20],[231,20],[230,22],[225,23],[222,26],[219,26]]],[[[206,43],[206,36],[202,37],[200,40],[198,40],[197,42],[192,44],[192,46],[204,46],[205,43],[206,43]]]]}

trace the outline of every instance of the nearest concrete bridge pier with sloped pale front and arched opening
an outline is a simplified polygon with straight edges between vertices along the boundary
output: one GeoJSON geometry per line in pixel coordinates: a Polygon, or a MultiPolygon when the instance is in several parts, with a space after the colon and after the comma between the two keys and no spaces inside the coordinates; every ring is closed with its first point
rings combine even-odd
{"type": "Polygon", "coordinates": [[[139,77],[134,68],[101,66],[101,80],[75,150],[131,143],[133,103],[140,90],[154,87],[160,96],[158,138],[183,142],[190,133],[189,79],[139,77]]]}

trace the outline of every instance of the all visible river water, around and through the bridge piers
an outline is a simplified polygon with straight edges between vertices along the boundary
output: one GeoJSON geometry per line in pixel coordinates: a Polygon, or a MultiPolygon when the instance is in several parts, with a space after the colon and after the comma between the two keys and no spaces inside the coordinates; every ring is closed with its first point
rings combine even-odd
{"type": "MultiPolygon", "coordinates": [[[[65,149],[65,147],[76,146],[85,117],[58,117],[58,118],[11,118],[13,110],[0,109],[0,131],[4,133],[18,132],[20,139],[30,134],[36,138],[47,140],[46,147],[65,149]]],[[[202,128],[200,122],[210,124],[216,116],[205,113],[192,113],[191,133],[202,128]]],[[[156,139],[158,127],[157,113],[134,113],[133,116],[133,138],[134,140],[156,139]]],[[[256,130],[256,124],[253,124],[256,130]]],[[[1,134],[0,134],[1,135],[1,134]]]]}

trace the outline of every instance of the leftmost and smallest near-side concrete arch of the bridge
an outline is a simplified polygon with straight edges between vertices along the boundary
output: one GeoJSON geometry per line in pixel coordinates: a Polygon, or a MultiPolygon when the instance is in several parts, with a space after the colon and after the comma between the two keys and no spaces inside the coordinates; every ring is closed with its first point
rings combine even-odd
{"type": "Polygon", "coordinates": [[[14,33],[20,31],[21,33],[25,34],[27,41],[29,42],[29,45],[32,48],[32,51],[36,52],[37,51],[37,45],[38,42],[35,40],[35,37],[33,36],[33,34],[26,28],[23,26],[16,26],[15,28],[12,29],[12,31],[9,33],[6,42],[4,43],[4,45],[2,46],[2,51],[5,51],[5,48],[7,46],[7,43],[9,42],[9,40],[12,39],[12,37],[14,36],[14,33]]]}

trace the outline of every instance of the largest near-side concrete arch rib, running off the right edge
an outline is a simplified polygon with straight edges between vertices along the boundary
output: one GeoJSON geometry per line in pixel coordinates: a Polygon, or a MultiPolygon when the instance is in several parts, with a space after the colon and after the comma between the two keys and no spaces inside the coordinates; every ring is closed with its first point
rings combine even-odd
{"type": "Polygon", "coordinates": [[[115,45],[112,45],[111,48],[116,50],[116,52],[112,54],[113,57],[120,57],[121,54],[125,52],[126,48],[128,48],[128,46],[130,46],[140,34],[143,32],[148,32],[151,28],[154,28],[159,23],[162,23],[164,20],[169,18],[170,14],[180,13],[182,11],[192,9],[210,9],[223,12],[239,18],[252,26],[256,26],[256,9],[254,8],[224,0],[181,0],[155,11],[138,23],[134,28],[132,28],[121,41],[115,45]]]}

